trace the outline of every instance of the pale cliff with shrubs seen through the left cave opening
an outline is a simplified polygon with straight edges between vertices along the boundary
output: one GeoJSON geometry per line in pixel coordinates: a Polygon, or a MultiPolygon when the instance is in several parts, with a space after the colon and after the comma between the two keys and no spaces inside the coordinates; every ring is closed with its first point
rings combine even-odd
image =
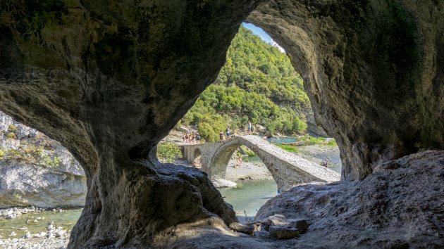
{"type": "Polygon", "coordinates": [[[0,112],[0,208],[85,205],[86,176],[57,141],[0,112]]]}

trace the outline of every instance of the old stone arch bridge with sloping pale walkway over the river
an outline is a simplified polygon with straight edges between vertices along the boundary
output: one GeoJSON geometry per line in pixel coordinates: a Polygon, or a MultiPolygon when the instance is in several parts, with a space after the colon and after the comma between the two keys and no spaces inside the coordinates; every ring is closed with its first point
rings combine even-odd
{"type": "Polygon", "coordinates": [[[296,184],[312,181],[339,181],[340,174],[326,167],[321,167],[298,155],[284,151],[259,136],[234,136],[223,143],[202,143],[184,145],[183,155],[188,162],[202,156],[202,171],[211,179],[224,179],[231,155],[240,146],[247,146],[261,158],[278,189],[288,190],[296,184]]]}

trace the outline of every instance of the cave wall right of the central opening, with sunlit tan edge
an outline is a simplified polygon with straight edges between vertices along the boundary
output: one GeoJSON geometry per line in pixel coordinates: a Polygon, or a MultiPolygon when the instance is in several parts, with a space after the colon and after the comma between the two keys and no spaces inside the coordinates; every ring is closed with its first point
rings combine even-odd
{"type": "Polygon", "coordinates": [[[317,122],[340,147],[343,179],[444,148],[443,4],[276,0],[247,18],[302,73],[317,122]]]}

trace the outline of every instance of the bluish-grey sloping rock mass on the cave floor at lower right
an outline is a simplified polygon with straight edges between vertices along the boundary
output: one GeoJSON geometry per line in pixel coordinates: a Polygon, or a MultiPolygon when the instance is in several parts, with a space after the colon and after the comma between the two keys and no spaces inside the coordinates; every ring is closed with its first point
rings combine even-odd
{"type": "Polygon", "coordinates": [[[313,223],[305,247],[440,247],[444,243],[444,151],[378,165],[354,184],[298,186],[269,200],[256,219],[282,214],[313,223]]]}

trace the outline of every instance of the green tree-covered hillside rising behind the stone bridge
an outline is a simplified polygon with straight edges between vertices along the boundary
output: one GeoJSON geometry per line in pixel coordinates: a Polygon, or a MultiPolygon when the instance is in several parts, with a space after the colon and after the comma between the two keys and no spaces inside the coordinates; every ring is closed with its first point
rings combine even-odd
{"type": "Polygon", "coordinates": [[[206,141],[218,140],[226,127],[245,129],[247,120],[269,134],[302,134],[311,113],[302,78],[288,56],[240,27],[216,82],[180,124],[196,125],[206,141]]]}

